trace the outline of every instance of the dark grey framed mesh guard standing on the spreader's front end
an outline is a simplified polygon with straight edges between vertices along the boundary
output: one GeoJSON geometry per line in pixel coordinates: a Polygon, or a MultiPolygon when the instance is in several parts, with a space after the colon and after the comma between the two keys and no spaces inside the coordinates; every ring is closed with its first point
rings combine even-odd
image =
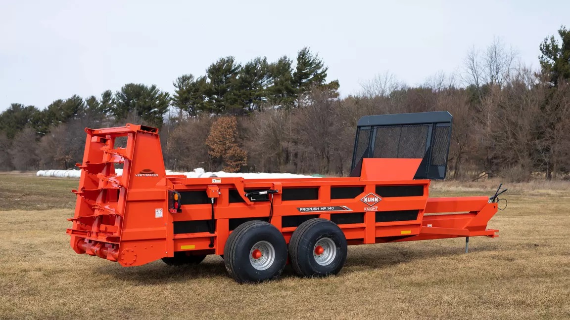
{"type": "Polygon", "coordinates": [[[351,177],[360,176],[363,158],[415,158],[422,161],[414,179],[445,179],[452,119],[449,112],[362,117],[351,177]]]}

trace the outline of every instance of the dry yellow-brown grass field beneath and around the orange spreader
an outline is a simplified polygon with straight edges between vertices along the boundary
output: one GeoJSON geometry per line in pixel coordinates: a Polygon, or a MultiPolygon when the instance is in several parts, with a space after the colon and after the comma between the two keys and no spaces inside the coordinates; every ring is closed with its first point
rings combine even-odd
{"type": "MultiPolygon", "coordinates": [[[[223,261],[123,268],[68,243],[78,180],[0,174],[0,319],[569,319],[570,184],[508,186],[500,237],[349,247],[343,271],[239,285],[223,261]],[[551,188],[547,190],[546,188],[551,188]],[[512,190],[512,191],[511,191],[512,190]]],[[[494,183],[437,183],[488,195],[494,183]]]]}

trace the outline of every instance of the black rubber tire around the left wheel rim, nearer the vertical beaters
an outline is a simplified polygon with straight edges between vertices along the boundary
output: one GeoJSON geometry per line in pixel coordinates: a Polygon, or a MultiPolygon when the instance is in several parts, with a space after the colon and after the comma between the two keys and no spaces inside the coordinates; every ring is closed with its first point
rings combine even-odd
{"type": "Polygon", "coordinates": [[[260,220],[240,224],[227,238],[223,249],[223,263],[236,282],[261,282],[280,276],[287,263],[287,243],[274,225],[260,220]],[[258,241],[267,241],[275,249],[275,260],[265,270],[251,265],[250,251],[258,241]]]}

